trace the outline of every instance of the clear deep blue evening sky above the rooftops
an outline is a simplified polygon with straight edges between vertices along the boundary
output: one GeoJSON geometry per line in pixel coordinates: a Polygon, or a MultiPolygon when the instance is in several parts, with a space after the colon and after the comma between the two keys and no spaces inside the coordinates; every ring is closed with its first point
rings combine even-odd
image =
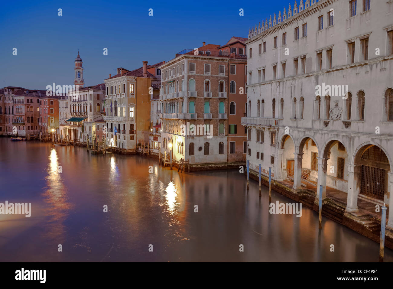
{"type": "MultiPolygon", "coordinates": [[[[9,1],[0,11],[0,87],[45,89],[73,84],[78,48],[85,86],[103,83],[116,68],[129,70],[231,36],[281,13],[288,1],[9,1]],[[62,16],[57,9],[62,9],[62,16]],[[149,8],[153,16],[149,16],[149,8]],[[244,16],[239,16],[239,9],[244,16]],[[17,55],[12,55],[13,48],[17,55]],[[108,55],[103,55],[103,48],[108,55]]],[[[294,0],[291,1],[294,5],[294,0]]]]}

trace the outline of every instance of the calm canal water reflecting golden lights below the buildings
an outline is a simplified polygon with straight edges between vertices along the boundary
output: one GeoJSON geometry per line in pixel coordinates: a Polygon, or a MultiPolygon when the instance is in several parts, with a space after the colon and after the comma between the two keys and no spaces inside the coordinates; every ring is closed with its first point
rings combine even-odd
{"type": "MultiPolygon", "coordinates": [[[[0,215],[0,261],[378,261],[378,243],[324,217],[319,230],[308,208],[269,214],[262,190],[250,180],[247,193],[237,169],[178,173],[0,138],[0,202],[32,206],[31,217],[0,215]]],[[[272,191],[277,200],[294,202],[272,191]]]]}

